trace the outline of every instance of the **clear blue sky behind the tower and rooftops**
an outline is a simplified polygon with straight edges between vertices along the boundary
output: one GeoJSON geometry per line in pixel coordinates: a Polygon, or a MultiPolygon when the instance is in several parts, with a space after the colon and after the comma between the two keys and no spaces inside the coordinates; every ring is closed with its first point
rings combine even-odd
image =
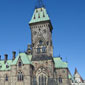
{"type": "MultiPolygon", "coordinates": [[[[85,79],[85,0],[44,0],[53,25],[54,56],[68,61],[85,79]]],[[[25,51],[31,43],[28,25],[37,0],[0,0],[0,54],[25,51]]]]}

